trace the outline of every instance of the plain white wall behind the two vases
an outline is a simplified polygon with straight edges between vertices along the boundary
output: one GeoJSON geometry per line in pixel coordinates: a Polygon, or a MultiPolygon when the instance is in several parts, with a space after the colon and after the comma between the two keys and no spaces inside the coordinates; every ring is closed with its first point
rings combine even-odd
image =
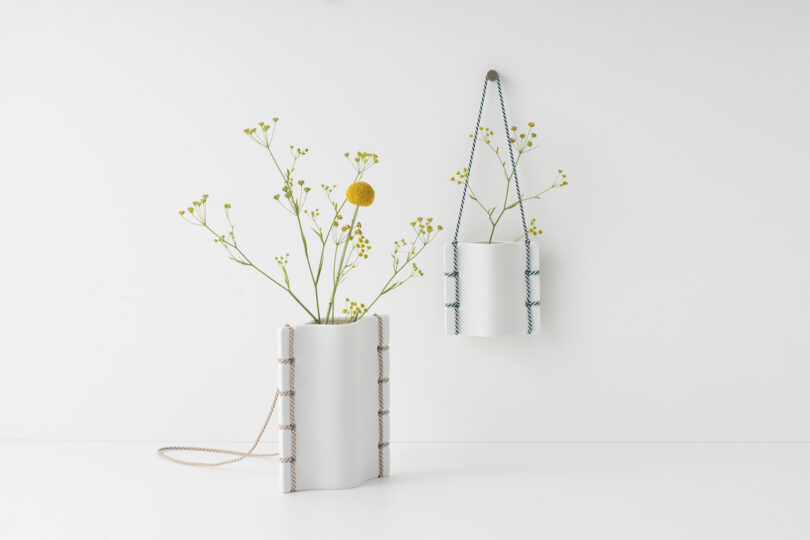
{"type": "Polygon", "coordinates": [[[526,189],[571,180],[531,211],[542,331],[444,336],[434,245],[379,306],[393,439],[810,440],[806,4],[113,4],[0,14],[0,438],[251,438],[302,316],[177,210],[210,193],[258,261],[291,251],[241,133],[280,116],[312,182],[380,154],[384,255],[411,217],[455,219],[494,67],[540,129],[526,189]]]}

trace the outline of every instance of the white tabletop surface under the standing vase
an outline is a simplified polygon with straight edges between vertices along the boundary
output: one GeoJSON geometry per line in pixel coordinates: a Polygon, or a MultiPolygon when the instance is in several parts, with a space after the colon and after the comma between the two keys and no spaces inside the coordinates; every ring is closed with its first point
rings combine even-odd
{"type": "Polygon", "coordinates": [[[394,443],[391,477],[295,494],[158,445],[0,442],[0,538],[810,537],[806,443],[394,443]]]}

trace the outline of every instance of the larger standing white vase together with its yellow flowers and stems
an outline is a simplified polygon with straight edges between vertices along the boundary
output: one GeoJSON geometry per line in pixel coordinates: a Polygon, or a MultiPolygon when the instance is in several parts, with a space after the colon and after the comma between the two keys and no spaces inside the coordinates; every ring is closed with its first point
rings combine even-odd
{"type": "Polygon", "coordinates": [[[289,165],[282,167],[273,146],[277,125],[278,118],[273,118],[244,131],[267,152],[278,173],[280,192],[273,199],[290,216],[292,234],[300,240],[305,269],[300,279],[308,282],[309,294],[293,287],[289,253],[275,257],[275,272],[248,256],[238,241],[230,204],[223,205],[224,228],[209,220],[207,194],[180,215],[210,234],[231,261],[283,290],[306,314],[304,323],[285,325],[276,333],[281,490],[354,487],[387,475],[390,467],[389,318],[368,315],[380,298],[422,275],[414,260],[442,227],[432,218],[414,219],[409,239],[394,242],[390,274],[380,279],[369,300],[360,302],[341,294],[347,278],[372,251],[360,217],[375,202],[374,188],[366,177],[379,156],[344,154],[353,170],[352,181],[345,196],[337,196],[343,193],[337,185],[319,186],[327,208],[322,214],[312,205],[316,190],[297,172],[309,149],[290,146],[289,165]]]}

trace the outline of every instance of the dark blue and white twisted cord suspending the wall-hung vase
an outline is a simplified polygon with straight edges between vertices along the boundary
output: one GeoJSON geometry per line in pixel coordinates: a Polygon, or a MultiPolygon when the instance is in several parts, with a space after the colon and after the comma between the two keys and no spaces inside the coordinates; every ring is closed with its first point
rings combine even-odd
{"type": "MultiPolygon", "coordinates": [[[[524,244],[526,246],[526,272],[525,272],[525,279],[526,279],[526,316],[528,321],[528,333],[531,334],[534,328],[534,323],[532,320],[532,306],[540,305],[539,301],[532,302],[532,290],[531,290],[531,281],[529,276],[538,275],[540,273],[539,270],[532,270],[531,265],[531,248],[529,245],[529,234],[528,230],[526,229],[526,214],[523,210],[523,199],[521,198],[520,194],[520,184],[518,183],[518,176],[517,176],[517,168],[515,166],[515,158],[512,152],[512,142],[509,136],[509,122],[506,120],[506,107],[503,103],[503,92],[501,91],[501,78],[498,77],[495,79],[498,84],[498,99],[501,103],[501,115],[503,116],[503,125],[504,129],[506,130],[506,142],[509,145],[509,159],[512,163],[512,176],[515,179],[515,190],[517,191],[518,196],[518,204],[520,205],[520,220],[521,224],[523,225],[523,239],[524,244]]],[[[478,107],[478,117],[475,120],[475,130],[473,130],[473,143],[472,148],[470,149],[470,161],[467,165],[467,177],[464,182],[464,188],[461,192],[461,204],[458,208],[458,220],[456,221],[456,231],[453,235],[453,271],[452,272],[445,272],[444,275],[447,277],[454,278],[455,281],[455,301],[446,303],[445,307],[453,308],[454,310],[454,327],[455,327],[455,334],[458,335],[459,333],[459,307],[460,307],[460,300],[459,300],[459,279],[458,279],[458,233],[461,229],[461,216],[464,213],[464,201],[467,198],[467,184],[470,181],[470,175],[472,174],[472,163],[473,157],[475,156],[475,144],[478,141],[478,131],[479,127],[481,126],[481,114],[484,111],[484,101],[486,100],[487,96],[487,83],[488,79],[484,78],[484,89],[481,92],[481,104],[478,107]]]]}

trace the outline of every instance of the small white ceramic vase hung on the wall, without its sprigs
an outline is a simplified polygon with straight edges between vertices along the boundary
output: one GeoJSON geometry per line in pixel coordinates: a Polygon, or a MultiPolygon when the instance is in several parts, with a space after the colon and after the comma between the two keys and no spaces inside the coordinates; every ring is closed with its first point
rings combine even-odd
{"type": "Polygon", "coordinates": [[[529,243],[531,269],[528,298],[524,242],[459,242],[457,249],[457,275],[453,270],[453,245],[447,244],[444,251],[447,334],[456,334],[456,316],[459,335],[490,337],[536,333],[540,328],[540,256],[537,243],[529,243]],[[459,287],[458,308],[455,307],[456,279],[459,287]]]}

